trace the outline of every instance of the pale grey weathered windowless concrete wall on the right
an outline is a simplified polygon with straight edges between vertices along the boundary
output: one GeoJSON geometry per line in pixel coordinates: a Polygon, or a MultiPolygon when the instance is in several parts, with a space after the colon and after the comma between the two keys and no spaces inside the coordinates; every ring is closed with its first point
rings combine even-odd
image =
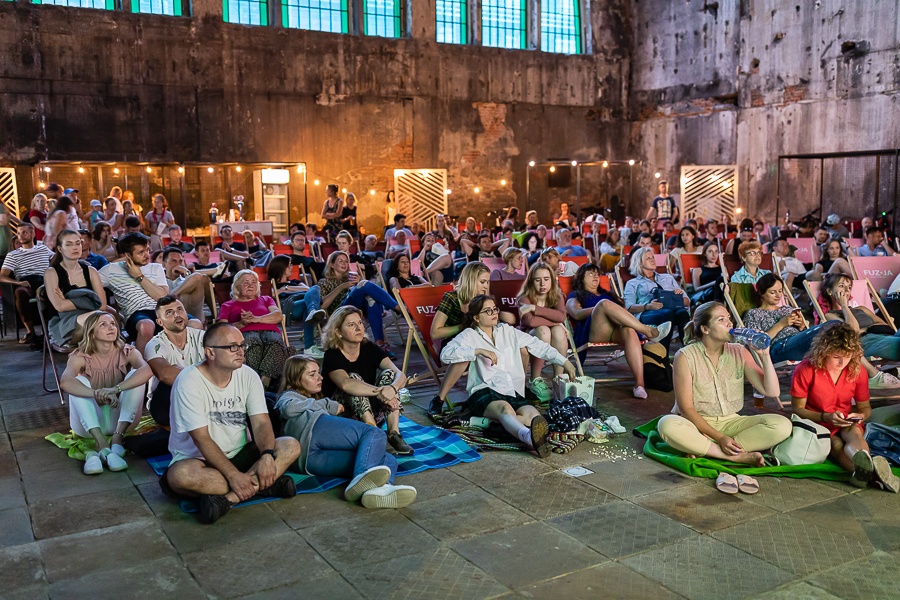
{"type": "MultiPolygon", "coordinates": [[[[632,140],[648,161],[645,202],[654,169],[677,184],[681,165],[736,163],[742,206],[772,219],[779,154],[900,147],[897,0],[635,0],[632,8],[629,106],[632,140]]],[[[861,184],[844,193],[829,196],[826,182],[826,214],[871,214],[867,164],[834,175],[861,184]]],[[[799,202],[796,217],[817,207],[816,179],[798,196],[783,193],[782,210],[799,202]]]]}

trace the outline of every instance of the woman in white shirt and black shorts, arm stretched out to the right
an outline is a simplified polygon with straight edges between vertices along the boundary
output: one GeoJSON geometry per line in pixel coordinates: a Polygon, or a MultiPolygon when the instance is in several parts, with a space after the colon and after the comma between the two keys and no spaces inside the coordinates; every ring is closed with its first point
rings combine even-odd
{"type": "Polygon", "coordinates": [[[472,414],[499,421],[503,428],[541,458],[550,454],[547,421],[525,400],[525,369],[520,348],[565,369],[575,367],[553,346],[505,323],[493,296],[479,295],[469,302],[465,329],[441,352],[446,364],[471,363],[466,391],[472,414]]]}

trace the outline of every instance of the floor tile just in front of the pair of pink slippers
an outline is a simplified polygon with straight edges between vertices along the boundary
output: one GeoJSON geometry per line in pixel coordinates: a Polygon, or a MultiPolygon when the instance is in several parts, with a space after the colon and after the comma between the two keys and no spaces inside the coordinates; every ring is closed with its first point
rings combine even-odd
{"type": "Polygon", "coordinates": [[[771,509],[747,502],[737,495],[723,494],[712,487],[712,483],[712,480],[704,480],[637,496],[633,502],[701,533],[774,514],[771,509]]]}

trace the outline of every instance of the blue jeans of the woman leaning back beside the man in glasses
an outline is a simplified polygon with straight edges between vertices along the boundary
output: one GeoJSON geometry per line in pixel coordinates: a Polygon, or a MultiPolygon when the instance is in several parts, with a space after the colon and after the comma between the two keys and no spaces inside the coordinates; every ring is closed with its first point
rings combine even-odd
{"type": "Polygon", "coordinates": [[[397,475],[397,459],[385,452],[387,434],[353,419],[322,415],[313,425],[306,470],[325,477],[356,477],[372,467],[391,470],[390,483],[397,475]]]}

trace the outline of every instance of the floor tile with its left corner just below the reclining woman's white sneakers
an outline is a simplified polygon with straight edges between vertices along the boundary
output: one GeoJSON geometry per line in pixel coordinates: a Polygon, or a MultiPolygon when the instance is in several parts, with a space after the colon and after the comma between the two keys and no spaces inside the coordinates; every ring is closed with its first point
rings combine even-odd
{"type": "Polygon", "coordinates": [[[506,527],[533,519],[482,490],[450,494],[436,500],[418,500],[403,514],[439,540],[452,540],[506,527]]]}

